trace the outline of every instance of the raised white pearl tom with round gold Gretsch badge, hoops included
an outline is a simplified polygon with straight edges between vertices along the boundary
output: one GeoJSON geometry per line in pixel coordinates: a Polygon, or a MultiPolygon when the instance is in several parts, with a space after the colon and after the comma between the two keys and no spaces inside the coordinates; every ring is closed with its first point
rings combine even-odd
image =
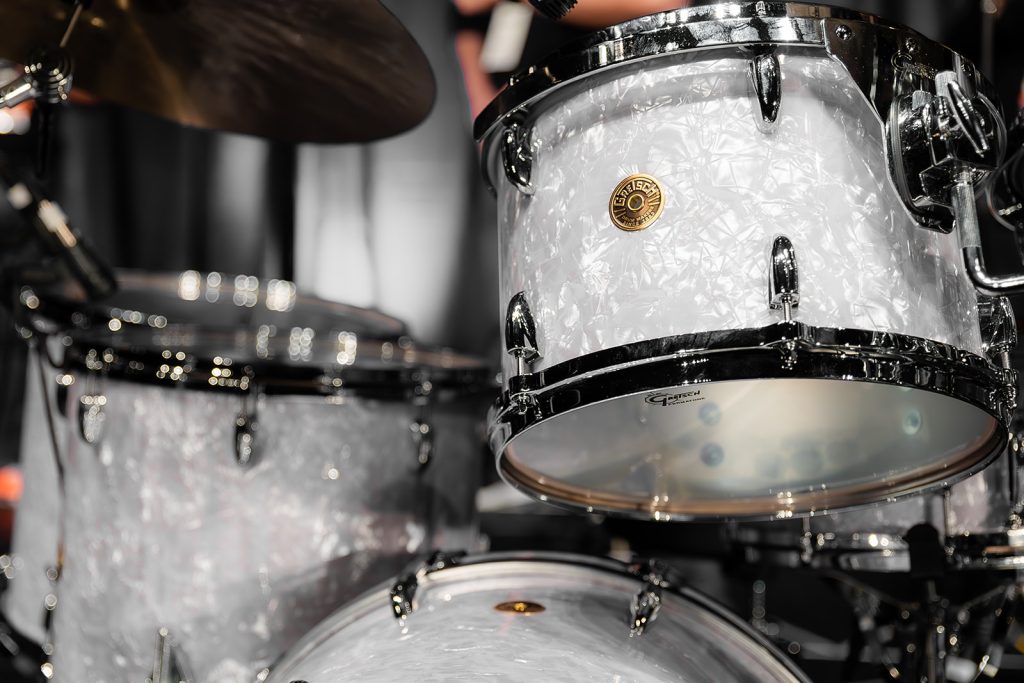
{"type": "Polygon", "coordinates": [[[773,517],[994,457],[1014,388],[985,355],[1012,341],[982,336],[957,234],[887,161],[889,105],[943,70],[988,101],[911,31],[759,2],[636,19],[513,78],[477,122],[505,479],[607,513],[773,517]]]}

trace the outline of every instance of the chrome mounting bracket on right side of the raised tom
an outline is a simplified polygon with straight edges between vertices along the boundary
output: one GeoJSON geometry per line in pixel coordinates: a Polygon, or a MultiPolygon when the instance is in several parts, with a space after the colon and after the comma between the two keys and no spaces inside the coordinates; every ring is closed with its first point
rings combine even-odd
{"type": "Polygon", "coordinates": [[[997,167],[1006,129],[987,98],[968,95],[957,72],[937,74],[935,90],[897,100],[890,146],[894,180],[907,207],[929,227],[948,232],[949,209],[958,217],[965,191],[973,205],[974,184],[997,167]]]}

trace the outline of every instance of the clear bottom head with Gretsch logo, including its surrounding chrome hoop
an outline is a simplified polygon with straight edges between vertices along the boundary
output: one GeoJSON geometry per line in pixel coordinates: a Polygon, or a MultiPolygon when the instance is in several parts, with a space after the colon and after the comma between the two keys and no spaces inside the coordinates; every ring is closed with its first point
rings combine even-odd
{"type": "Polygon", "coordinates": [[[641,343],[527,378],[493,417],[502,475],[587,510],[792,516],[951,482],[1006,442],[990,398],[1009,387],[981,358],[800,326],[722,336],[733,346],[641,343]]]}

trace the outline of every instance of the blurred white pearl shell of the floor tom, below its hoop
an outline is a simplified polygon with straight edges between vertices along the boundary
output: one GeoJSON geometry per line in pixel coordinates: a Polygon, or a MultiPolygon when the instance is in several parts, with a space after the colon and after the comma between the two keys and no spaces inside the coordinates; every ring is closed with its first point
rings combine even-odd
{"type": "MultiPolygon", "coordinates": [[[[82,378],[73,387],[75,410],[82,378]]],[[[197,681],[251,683],[314,624],[431,548],[473,547],[477,416],[433,407],[422,469],[400,401],[268,395],[236,462],[239,395],[104,380],[67,453],[55,615],[66,681],[142,681],[166,628],[197,681]]]]}

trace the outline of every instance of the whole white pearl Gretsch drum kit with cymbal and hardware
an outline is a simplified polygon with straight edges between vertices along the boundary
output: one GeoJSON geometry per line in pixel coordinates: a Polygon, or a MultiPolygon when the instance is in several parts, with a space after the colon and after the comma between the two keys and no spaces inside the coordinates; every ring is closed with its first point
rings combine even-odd
{"type": "MultiPolygon", "coordinates": [[[[429,69],[376,0],[285,4],[6,2],[0,52],[27,63],[0,103],[74,83],[332,142],[425,116],[429,69]]],[[[667,559],[483,552],[489,441],[564,510],[906,578],[923,616],[895,656],[881,593],[847,584],[887,674],[992,676],[1022,597],[1024,276],[986,269],[975,196],[1020,237],[1021,130],[962,55],[835,7],[700,6],[567,45],[476,122],[500,387],[284,280],[115,271],[5,170],[50,257],[4,273],[35,351],[8,631],[68,681],[809,680],[667,559]],[[948,577],[984,580],[955,602],[948,577]]]]}

